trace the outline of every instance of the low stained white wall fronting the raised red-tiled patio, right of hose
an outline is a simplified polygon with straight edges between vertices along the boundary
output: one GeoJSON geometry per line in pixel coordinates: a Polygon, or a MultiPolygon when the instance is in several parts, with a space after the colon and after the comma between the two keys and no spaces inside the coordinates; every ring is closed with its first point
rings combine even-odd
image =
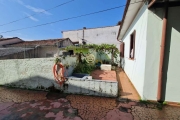
{"type": "Polygon", "coordinates": [[[108,80],[94,80],[91,76],[83,78],[69,78],[65,93],[117,97],[118,82],[108,80]]]}

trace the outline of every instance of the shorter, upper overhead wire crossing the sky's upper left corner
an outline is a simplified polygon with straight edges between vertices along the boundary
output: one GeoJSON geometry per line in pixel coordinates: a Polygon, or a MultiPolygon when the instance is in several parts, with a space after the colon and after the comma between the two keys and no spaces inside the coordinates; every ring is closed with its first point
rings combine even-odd
{"type": "Polygon", "coordinates": [[[52,7],[52,8],[46,9],[46,10],[43,10],[43,11],[41,11],[41,12],[34,13],[34,14],[29,15],[29,16],[26,16],[26,17],[23,17],[23,18],[20,18],[20,19],[17,19],[17,20],[8,22],[8,23],[1,24],[0,26],[5,26],[5,25],[11,24],[11,23],[15,23],[15,22],[24,20],[24,19],[26,19],[26,18],[30,18],[30,17],[32,17],[32,16],[35,16],[35,15],[39,14],[39,13],[44,13],[44,12],[46,12],[46,11],[50,11],[50,10],[52,10],[52,9],[55,9],[55,8],[57,8],[57,7],[60,7],[60,6],[63,6],[63,5],[65,5],[65,4],[68,4],[68,3],[73,2],[73,1],[74,1],[74,0],[70,0],[70,1],[64,2],[64,3],[62,3],[62,4],[59,4],[59,5],[55,6],[55,7],[52,7]]]}

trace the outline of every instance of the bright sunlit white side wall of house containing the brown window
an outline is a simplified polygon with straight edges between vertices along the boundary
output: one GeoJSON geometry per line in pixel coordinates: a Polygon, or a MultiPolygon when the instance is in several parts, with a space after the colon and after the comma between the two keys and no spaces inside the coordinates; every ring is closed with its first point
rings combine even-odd
{"type": "Polygon", "coordinates": [[[145,74],[147,15],[147,5],[143,5],[122,39],[125,42],[124,70],[141,97],[143,97],[145,74]],[[130,60],[130,34],[134,30],[136,30],[135,59],[130,60]]]}

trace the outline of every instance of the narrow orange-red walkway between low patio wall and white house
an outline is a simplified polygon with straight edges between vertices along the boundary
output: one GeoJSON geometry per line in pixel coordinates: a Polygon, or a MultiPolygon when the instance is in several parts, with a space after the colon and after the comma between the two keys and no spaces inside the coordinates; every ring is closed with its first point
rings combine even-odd
{"type": "Polygon", "coordinates": [[[140,96],[122,69],[117,70],[120,98],[139,100],[140,96]]]}

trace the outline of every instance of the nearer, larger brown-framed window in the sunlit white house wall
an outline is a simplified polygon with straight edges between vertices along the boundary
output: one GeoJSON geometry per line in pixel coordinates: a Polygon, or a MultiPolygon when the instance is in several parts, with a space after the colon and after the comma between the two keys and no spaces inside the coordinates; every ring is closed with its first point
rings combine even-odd
{"type": "Polygon", "coordinates": [[[134,59],[135,57],[135,38],[136,38],[136,31],[130,35],[130,50],[129,50],[129,58],[134,59]]]}

